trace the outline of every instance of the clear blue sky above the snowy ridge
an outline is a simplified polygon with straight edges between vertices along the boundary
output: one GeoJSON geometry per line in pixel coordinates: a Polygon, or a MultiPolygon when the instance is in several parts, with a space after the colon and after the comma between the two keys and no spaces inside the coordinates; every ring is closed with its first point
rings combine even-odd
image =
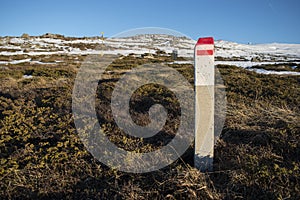
{"type": "Polygon", "coordinates": [[[300,0],[1,0],[0,36],[110,37],[162,27],[193,39],[300,43],[300,0]]]}

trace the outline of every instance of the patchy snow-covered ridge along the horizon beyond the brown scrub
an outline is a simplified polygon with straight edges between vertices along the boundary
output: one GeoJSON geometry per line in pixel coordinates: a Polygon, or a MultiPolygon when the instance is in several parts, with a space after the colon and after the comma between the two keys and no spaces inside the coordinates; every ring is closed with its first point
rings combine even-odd
{"type": "MultiPolygon", "coordinates": [[[[180,57],[187,61],[175,63],[193,64],[194,46],[196,41],[169,35],[137,35],[126,38],[56,39],[43,37],[2,37],[0,38],[0,56],[44,56],[44,55],[89,55],[89,54],[144,54],[155,53],[157,50],[166,53],[178,51],[180,57]],[[80,48],[81,47],[81,48],[80,48]]],[[[238,44],[229,41],[215,41],[216,64],[234,65],[263,74],[300,75],[295,71],[270,71],[255,69],[255,66],[266,64],[300,64],[300,44],[238,44]]],[[[20,60],[1,60],[0,65],[20,64],[53,64],[32,61],[30,58],[20,60]]],[[[59,61],[58,61],[59,62],[59,61]]],[[[55,63],[55,62],[54,62],[55,63]]],[[[295,66],[297,67],[297,66],[295,66]]]]}

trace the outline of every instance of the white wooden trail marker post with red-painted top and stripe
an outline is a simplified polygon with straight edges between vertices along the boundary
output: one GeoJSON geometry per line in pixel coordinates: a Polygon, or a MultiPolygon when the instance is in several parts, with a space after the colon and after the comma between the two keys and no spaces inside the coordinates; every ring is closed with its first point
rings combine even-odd
{"type": "Polygon", "coordinates": [[[195,46],[195,167],[213,170],[214,155],[214,39],[199,38],[195,46]]]}

